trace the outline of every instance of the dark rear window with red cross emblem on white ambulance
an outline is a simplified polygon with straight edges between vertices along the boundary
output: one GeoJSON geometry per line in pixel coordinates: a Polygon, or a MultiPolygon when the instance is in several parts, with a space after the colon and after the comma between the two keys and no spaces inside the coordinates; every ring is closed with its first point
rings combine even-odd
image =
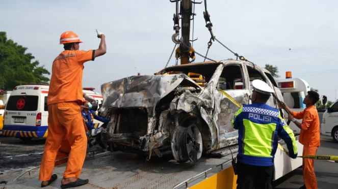
{"type": "Polygon", "coordinates": [[[9,111],[36,111],[38,110],[38,96],[10,96],[6,110],[9,111]]]}

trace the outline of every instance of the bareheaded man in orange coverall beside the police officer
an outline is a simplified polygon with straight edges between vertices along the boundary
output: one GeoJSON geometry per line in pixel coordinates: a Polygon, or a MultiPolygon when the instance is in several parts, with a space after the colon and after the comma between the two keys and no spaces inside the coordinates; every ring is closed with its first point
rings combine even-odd
{"type": "MultiPolygon", "coordinates": [[[[315,107],[315,104],[318,101],[319,94],[315,91],[308,91],[303,101],[306,108],[298,113],[292,111],[285,103],[283,103],[291,113],[291,115],[288,116],[288,119],[293,121],[300,129],[299,142],[304,146],[303,155],[316,155],[318,147],[320,146],[319,115],[315,107]],[[300,123],[296,119],[303,120],[300,123]]],[[[300,189],[317,189],[313,159],[303,158],[303,177],[304,185],[301,186],[300,189]]]]}

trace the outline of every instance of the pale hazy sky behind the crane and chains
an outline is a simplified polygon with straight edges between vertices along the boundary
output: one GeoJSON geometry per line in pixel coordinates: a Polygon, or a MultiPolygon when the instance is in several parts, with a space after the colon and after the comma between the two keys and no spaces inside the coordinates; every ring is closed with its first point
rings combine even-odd
{"type": "MultiPolygon", "coordinates": [[[[204,4],[204,2],[203,2],[204,4]]],[[[204,5],[195,6],[196,52],[205,54],[210,40],[203,19],[204,5]]],[[[207,1],[214,35],[232,51],[255,64],[277,66],[280,78],[294,78],[334,101],[338,89],[338,1],[260,0],[207,1]],[[290,50],[291,49],[291,50],[290,50]]],[[[94,87],[132,75],[152,75],[163,69],[174,47],[169,0],[148,1],[0,1],[0,31],[27,47],[40,65],[51,71],[64,31],[83,41],[80,49],[97,49],[95,29],[106,35],[107,53],[85,63],[83,87],[94,87]]],[[[236,57],[214,42],[208,57],[236,57]]],[[[195,62],[204,58],[196,56],[195,62]]],[[[175,64],[171,58],[169,66],[175,64]]],[[[50,76],[49,76],[50,77],[50,76]]]]}

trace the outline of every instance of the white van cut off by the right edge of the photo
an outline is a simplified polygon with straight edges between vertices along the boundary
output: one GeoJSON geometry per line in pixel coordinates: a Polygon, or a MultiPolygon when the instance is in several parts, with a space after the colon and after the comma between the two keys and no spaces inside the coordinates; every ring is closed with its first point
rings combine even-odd
{"type": "Polygon", "coordinates": [[[338,143],[338,101],[332,103],[323,114],[322,135],[332,136],[333,140],[338,143]]]}

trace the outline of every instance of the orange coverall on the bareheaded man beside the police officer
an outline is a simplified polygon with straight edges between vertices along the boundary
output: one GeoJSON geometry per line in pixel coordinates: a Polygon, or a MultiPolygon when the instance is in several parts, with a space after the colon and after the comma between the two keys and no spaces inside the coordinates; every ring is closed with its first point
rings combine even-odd
{"type": "MultiPolygon", "coordinates": [[[[310,106],[304,111],[295,112],[296,119],[303,119],[299,142],[303,144],[303,155],[316,155],[320,146],[319,116],[316,107],[310,106]]],[[[303,158],[303,177],[307,189],[317,189],[314,160],[303,158]]]]}

